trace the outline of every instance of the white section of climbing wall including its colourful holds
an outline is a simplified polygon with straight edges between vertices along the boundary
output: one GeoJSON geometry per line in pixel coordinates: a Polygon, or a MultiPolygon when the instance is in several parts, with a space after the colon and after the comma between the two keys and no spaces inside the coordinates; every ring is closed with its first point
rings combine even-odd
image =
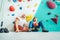
{"type": "Polygon", "coordinates": [[[12,31],[16,17],[26,15],[29,22],[34,17],[41,0],[2,0],[3,27],[12,31]]]}

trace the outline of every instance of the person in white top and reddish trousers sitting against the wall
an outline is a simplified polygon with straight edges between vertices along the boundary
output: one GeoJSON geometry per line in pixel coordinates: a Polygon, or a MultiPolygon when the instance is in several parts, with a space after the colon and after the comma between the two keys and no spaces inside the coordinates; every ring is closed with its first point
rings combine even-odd
{"type": "Polygon", "coordinates": [[[27,32],[29,30],[26,16],[23,14],[21,17],[17,17],[14,24],[14,31],[27,32]]]}

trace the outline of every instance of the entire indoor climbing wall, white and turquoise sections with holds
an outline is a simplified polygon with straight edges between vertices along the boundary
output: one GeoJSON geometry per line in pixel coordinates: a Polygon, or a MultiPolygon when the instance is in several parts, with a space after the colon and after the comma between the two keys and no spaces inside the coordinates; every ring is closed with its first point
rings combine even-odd
{"type": "Polygon", "coordinates": [[[2,4],[3,27],[10,31],[15,18],[22,14],[28,22],[35,16],[47,30],[60,31],[60,0],[2,0],[2,4]]]}

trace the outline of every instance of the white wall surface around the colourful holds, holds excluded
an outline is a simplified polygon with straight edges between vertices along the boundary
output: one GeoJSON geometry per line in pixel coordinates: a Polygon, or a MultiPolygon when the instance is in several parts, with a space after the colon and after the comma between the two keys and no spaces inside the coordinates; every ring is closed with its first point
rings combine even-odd
{"type": "Polygon", "coordinates": [[[33,14],[35,15],[35,12],[41,2],[41,0],[32,0],[30,2],[13,2],[12,0],[8,2],[8,0],[2,0],[3,1],[3,8],[2,8],[2,13],[3,13],[3,27],[7,27],[10,31],[13,31],[13,21],[17,16],[21,16],[23,13],[26,15],[33,14]],[[37,3],[37,6],[34,7],[34,5],[37,3]],[[15,7],[15,11],[11,12],[9,11],[9,6],[13,5],[15,7]],[[18,6],[19,5],[19,6],[18,6]],[[30,5],[30,8],[27,8],[27,6],[30,5]],[[19,9],[19,7],[22,6],[22,10],[19,9]],[[32,10],[35,10],[33,12],[32,10]],[[12,14],[15,14],[15,16],[12,16],[12,14]]]}

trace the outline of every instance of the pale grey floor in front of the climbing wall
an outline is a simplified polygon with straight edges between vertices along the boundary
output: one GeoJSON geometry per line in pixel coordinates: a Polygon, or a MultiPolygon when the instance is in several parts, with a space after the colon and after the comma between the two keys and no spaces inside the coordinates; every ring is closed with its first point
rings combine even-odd
{"type": "Polygon", "coordinates": [[[60,40],[60,33],[10,32],[0,34],[0,40],[60,40]]]}

